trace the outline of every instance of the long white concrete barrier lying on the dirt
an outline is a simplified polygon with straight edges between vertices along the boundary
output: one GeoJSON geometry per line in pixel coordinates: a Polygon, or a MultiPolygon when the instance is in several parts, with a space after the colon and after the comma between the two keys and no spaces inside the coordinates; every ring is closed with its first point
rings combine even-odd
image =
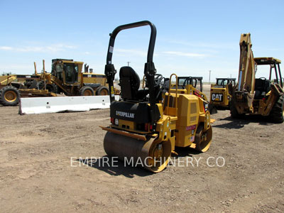
{"type": "MultiPolygon", "coordinates": [[[[119,100],[119,95],[115,96],[119,100]]],[[[109,96],[28,97],[20,99],[20,114],[45,114],[62,111],[89,111],[109,108],[109,96]]]]}

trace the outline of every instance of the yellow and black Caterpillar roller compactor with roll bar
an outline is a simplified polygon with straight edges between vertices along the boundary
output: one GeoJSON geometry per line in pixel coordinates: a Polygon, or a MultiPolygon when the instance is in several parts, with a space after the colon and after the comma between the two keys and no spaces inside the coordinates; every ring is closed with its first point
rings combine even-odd
{"type": "Polygon", "coordinates": [[[192,94],[178,92],[178,77],[170,76],[170,87],[162,102],[163,76],[156,73],[153,63],[156,29],[150,21],[118,26],[110,34],[105,75],[110,92],[111,124],[102,127],[104,151],[120,160],[141,162],[153,173],[167,165],[175,146],[191,147],[205,152],[212,142],[212,126],[208,102],[192,94]],[[139,89],[140,79],[131,67],[119,71],[121,100],[114,100],[114,76],[111,63],[116,35],[125,29],[151,27],[147,62],[144,67],[145,87],[139,89]],[[172,78],[175,80],[172,80],[172,78]],[[173,89],[175,88],[175,89],[173,89]]]}

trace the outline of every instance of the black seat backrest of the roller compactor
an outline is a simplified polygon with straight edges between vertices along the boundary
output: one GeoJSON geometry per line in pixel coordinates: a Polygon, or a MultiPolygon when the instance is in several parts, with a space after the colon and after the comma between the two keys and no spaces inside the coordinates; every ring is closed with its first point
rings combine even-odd
{"type": "Polygon", "coordinates": [[[140,87],[140,78],[131,67],[121,67],[119,70],[121,98],[135,100],[140,87]]]}

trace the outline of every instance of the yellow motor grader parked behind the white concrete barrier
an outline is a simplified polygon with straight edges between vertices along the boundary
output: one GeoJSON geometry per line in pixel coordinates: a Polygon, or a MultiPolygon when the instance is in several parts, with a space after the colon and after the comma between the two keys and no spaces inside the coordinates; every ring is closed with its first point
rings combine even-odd
{"type": "MultiPolygon", "coordinates": [[[[35,66],[34,75],[9,75],[0,77],[0,104],[15,106],[20,97],[55,97],[63,93],[67,96],[108,95],[105,75],[92,73],[84,62],[66,59],[53,59],[51,73],[38,73],[35,66]]],[[[116,94],[119,90],[115,89],[116,94]]]]}

